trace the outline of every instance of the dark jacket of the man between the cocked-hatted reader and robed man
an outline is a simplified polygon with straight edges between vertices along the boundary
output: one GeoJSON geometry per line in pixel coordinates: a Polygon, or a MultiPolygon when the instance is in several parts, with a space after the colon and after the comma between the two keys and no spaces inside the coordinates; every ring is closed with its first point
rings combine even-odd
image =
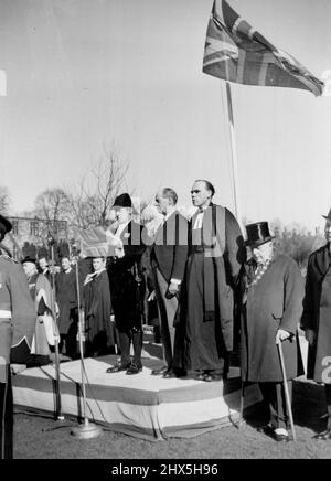
{"type": "Polygon", "coordinates": [[[188,250],[188,221],[175,211],[159,227],[151,249],[152,265],[157,265],[167,282],[183,280],[188,250]]]}

